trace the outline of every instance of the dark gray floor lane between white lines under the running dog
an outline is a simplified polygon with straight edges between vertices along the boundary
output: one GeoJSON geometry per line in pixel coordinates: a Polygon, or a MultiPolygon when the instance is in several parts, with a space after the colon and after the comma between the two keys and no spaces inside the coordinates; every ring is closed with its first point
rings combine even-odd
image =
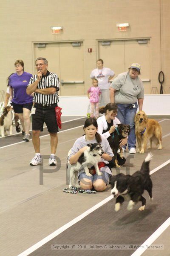
{"type": "MultiPolygon", "coordinates": [[[[151,178],[154,200],[150,203],[147,192],[144,192],[147,200],[144,211],[138,211],[140,203],[132,211],[127,211],[127,202],[125,202],[119,212],[115,212],[115,200],[112,199],[30,255],[130,256],[134,250],[51,250],[51,244],[141,245],[170,215],[170,198],[167,196],[170,185],[170,164],[153,173],[151,178]]],[[[169,251],[168,248],[164,250],[167,250],[167,253],[169,251]]],[[[157,252],[157,255],[161,255],[161,250],[157,252]]]]}

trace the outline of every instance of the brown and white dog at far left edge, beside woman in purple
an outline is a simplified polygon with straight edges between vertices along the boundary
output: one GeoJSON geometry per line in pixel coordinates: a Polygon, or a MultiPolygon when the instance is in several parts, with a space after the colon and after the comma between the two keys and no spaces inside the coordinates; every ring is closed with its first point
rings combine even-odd
{"type": "Polygon", "coordinates": [[[3,115],[0,116],[0,134],[5,137],[6,131],[12,135],[12,109],[11,106],[5,107],[3,115]]]}

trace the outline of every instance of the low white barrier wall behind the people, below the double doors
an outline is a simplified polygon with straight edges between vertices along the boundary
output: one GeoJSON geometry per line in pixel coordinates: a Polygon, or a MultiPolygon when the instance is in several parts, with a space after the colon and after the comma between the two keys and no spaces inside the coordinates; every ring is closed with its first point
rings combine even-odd
{"type": "MultiPolygon", "coordinates": [[[[86,116],[89,99],[87,96],[60,96],[62,116],[86,116]]],[[[143,110],[147,115],[170,115],[170,94],[144,95],[143,110]]]]}

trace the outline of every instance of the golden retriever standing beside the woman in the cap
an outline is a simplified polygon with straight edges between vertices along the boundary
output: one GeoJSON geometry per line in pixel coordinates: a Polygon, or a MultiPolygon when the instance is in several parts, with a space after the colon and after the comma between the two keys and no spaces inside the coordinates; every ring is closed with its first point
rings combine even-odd
{"type": "Polygon", "coordinates": [[[162,131],[159,123],[154,119],[148,119],[144,111],[139,111],[135,116],[135,134],[138,142],[139,153],[144,153],[147,146],[147,139],[150,140],[150,146],[152,148],[152,142],[159,144],[158,149],[162,149],[162,131]]]}

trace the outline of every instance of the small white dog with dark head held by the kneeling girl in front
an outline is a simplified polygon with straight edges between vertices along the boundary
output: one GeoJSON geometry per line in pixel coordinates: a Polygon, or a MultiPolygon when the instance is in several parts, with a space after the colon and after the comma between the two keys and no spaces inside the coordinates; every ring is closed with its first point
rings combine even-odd
{"type": "Polygon", "coordinates": [[[102,172],[99,171],[98,163],[101,161],[101,156],[104,154],[102,145],[100,143],[88,144],[88,148],[81,154],[77,164],[71,165],[70,169],[70,185],[80,187],[78,184],[78,172],[80,169],[85,169],[85,174],[87,176],[92,176],[89,172],[89,169],[95,168],[97,175],[102,175],[102,172]]]}

